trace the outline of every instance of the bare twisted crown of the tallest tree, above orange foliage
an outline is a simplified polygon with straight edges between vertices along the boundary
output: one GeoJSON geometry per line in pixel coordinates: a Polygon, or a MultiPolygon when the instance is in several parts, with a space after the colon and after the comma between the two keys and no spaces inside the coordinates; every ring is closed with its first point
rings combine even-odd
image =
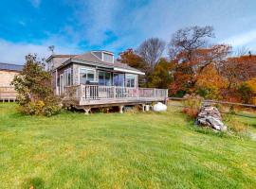
{"type": "Polygon", "coordinates": [[[206,47],[208,38],[213,37],[212,26],[190,26],[178,29],[169,43],[169,56],[175,59],[183,53],[185,61],[191,61],[193,51],[206,47]]]}

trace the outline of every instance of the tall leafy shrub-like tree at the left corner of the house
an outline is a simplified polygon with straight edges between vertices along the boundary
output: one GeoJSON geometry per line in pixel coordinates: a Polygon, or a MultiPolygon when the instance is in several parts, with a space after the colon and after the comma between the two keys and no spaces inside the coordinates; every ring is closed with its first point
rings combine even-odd
{"type": "Polygon", "coordinates": [[[36,55],[28,54],[22,72],[11,82],[18,93],[17,100],[22,112],[50,116],[61,110],[53,94],[51,75],[45,71],[45,63],[36,55]]]}

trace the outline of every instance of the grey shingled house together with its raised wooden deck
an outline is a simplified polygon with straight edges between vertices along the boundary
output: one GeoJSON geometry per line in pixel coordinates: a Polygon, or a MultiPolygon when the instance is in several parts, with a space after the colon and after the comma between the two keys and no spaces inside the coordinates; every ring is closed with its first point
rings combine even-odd
{"type": "Polygon", "coordinates": [[[143,72],[115,60],[112,52],[90,51],[81,55],[51,55],[47,69],[53,77],[54,93],[64,95],[77,108],[152,104],[165,101],[166,89],[138,88],[143,72]],[[71,93],[72,92],[72,93],[71,93]]]}

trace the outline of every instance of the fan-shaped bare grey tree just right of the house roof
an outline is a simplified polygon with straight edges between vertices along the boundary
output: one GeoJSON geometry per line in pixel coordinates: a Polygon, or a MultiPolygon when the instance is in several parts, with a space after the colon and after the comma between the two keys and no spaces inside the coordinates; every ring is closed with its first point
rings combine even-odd
{"type": "Polygon", "coordinates": [[[137,48],[137,54],[145,60],[151,69],[160,60],[165,49],[165,42],[158,38],[150,38],[141,43],[137,48]]]}

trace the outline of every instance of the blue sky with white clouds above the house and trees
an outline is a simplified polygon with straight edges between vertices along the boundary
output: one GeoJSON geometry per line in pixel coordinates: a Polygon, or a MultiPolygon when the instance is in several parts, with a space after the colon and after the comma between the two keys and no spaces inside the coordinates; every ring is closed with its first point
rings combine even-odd
{"type": "Polygon", "coordinates": [[[256,50],[255,0],[1,0],[0,61],[27,53],[105,49],[118,54],[150,37],[170,41],[184,26],[214,26],[211,43],[256,50]]]}

